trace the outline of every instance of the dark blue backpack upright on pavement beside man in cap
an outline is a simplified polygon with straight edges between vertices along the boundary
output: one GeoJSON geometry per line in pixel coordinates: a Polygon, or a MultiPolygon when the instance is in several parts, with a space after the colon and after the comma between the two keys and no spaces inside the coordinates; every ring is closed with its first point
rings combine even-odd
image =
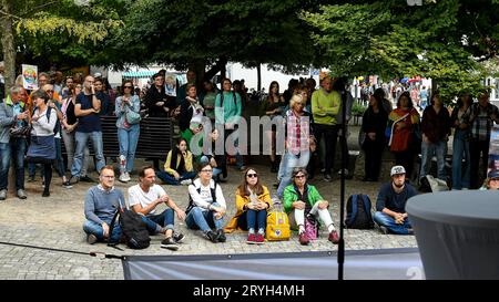
{"type": "Polygon", "coordinates": [[[350,195],[347,200],[346,227],[348,229],[373,229],[374,221],[370,215],[370,199],[367,195],[350,195]]]}

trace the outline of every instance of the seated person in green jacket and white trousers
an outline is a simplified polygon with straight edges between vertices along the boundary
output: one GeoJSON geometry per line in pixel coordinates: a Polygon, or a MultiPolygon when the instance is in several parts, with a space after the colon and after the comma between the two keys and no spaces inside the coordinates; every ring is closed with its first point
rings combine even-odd
{"type": "Polygon", "coordinates": [[[299,243],[306,246],[309,239],[305,233],[305,217],[312,215],[315,219],[320,219],[329,232],[328,240],[337,244],[339,237],[327,210],[329,204],[313,185],[307,183],[307,176],[305,168],[295,168],[293,184],[284,190],[284,210],[289,217],[289,226],[292,229],[298,228],[299,243]]]}

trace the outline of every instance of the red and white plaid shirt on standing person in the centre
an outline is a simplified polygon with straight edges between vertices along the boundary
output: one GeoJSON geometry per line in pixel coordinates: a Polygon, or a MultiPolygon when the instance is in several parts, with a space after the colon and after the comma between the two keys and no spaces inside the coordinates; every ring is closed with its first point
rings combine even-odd
{"type": "Polygon", "coordinates": [[[286,112],[286,148],[294,155],[301,152],[309,150],[308,138],[310,137],[312,124],[310,114],[303,112],[297,116],[292,110],[286,112]]]}

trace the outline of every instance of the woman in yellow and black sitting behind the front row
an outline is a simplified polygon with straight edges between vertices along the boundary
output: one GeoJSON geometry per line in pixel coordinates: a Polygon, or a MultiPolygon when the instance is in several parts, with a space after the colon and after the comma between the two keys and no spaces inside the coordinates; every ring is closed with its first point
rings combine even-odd
{"type": "Polygon", "coordinates": [[[191,185],[195,176],[192,153],[187,150],[187,140],[180,138],[176,147],[169,152],[164,171],[159,171],[157,178],[169,185],[177,186],[191,185]]]}

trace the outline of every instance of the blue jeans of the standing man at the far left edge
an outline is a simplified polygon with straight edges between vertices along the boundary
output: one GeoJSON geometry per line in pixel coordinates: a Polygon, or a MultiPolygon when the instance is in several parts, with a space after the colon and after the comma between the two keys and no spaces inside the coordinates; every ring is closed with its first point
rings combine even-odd
{"type": "Polygon", "coordinates": [[[0,143],[0,190],[7,190],[10,158],[14,156],[16,190],[24,189],[26,138],[11,138],[10,143],[0,143]]]}

